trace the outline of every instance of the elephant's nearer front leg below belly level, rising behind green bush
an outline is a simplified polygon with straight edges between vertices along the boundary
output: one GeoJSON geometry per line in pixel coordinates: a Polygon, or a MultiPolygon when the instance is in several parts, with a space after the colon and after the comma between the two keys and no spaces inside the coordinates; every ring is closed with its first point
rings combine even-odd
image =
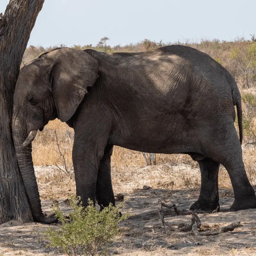
{"type": "Polygon", "coordinates": [[[103,156],[96,148],[91,151],[80,151],[73,146],[72,159],[76,180],[76,196],[81,196],[82,205],[88,206],[88,199],[95,204],[96,182],[99,163],[103,156]]]}

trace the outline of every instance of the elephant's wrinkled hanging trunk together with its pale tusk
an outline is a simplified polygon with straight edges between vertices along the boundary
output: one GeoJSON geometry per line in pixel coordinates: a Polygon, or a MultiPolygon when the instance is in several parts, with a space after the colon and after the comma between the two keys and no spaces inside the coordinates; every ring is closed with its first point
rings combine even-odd
{"type": "Polygon", "coordinates": [[[57,222],[57,220],[54,217],[51,217],[51,218],[45,217],[42,212],[41,200],[39,197],[38,187],[36,183],[36,176],[35,176],[35,171],[34,171],[34,166],[32,161],[32,145],[30,142],[36,136],[35,131],[37,132],[37,130],[33,130],[32,133],[30,132],[31,134],[29,133],[28,138],[26,139],[27,136],[24,134],[25,132],[22,130],[20,121],[17,119],[12,120],[12,135],[13,135],[16,156],[17,156],[19,167],[20,167],[22,179],[28,195],[28,200],[31,207],[33,218],[35,221],[51,224],[53,222],[57,222]],[[21,144],[22,144],[22,148],[20,147],[21,144]]]}

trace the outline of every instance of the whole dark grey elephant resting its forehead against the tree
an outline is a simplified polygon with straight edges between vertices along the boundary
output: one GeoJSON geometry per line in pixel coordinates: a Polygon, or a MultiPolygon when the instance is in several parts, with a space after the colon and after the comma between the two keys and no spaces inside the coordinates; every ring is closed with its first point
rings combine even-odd
{"type": "Polygon", "coordinates": [[[220,164],[235,193],[231,211],[256,208],[234,127],[235,105],[242,140],[241,96],[234,79],[207,54],[187,46],[113,54],[61,48],[41,55],[20,70],[12,123],[34,219],[55,221],[42,214],[30,142],[37,129],[57,117],[75,130],[76,193],[84,206],[88,198],[102,207],[115,204],[110,156],[117,145],[185,153],[198,161],[202,184],[191,209],[219,206],[220,164]]]}

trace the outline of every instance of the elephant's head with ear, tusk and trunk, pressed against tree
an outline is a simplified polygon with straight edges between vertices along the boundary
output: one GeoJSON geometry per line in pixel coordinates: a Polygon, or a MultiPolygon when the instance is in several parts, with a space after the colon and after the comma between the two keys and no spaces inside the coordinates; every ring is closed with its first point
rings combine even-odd
{"type": "Polygon", "coordinates": [[[12,133],[20,172],[33,218],[52,223],[41,210],[32,162],[31,142],[37,130],[58,117],[68,121],[76,112],[87,86],[98,76],[98,62],[88,53],[57,48],[21,68],[14,92],[12,133]]]}

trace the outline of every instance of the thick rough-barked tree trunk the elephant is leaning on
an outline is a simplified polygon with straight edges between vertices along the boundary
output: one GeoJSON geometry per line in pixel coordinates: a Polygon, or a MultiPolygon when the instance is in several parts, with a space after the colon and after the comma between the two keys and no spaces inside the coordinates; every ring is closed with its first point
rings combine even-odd
{"type": "MultiPolygon", "coordinates": [[[[13,92],[44,0],[11,0],[0,20],[0,224],[33,220],[12,140],[13,92]]],[[[1,17],[1,15],[0,15],[1,17]]]]}

